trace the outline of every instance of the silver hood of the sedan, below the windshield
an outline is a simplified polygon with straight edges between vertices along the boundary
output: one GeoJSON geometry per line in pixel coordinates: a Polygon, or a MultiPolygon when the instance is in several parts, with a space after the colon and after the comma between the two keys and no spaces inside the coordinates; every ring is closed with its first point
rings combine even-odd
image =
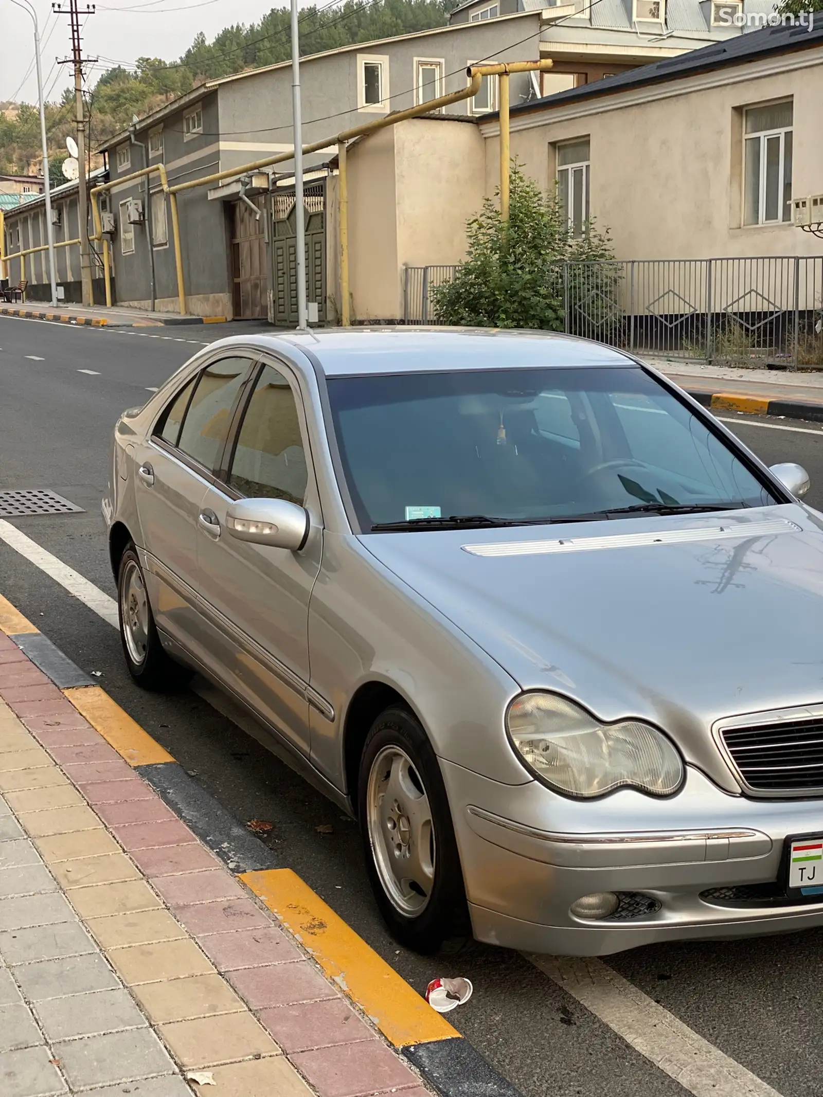
{"type": "Polygon", "coordinates": [[[805,507],[361,542],[522,689],[650,720],[730,791],[714,721],[823,701],[823,516],[805,507]]]}

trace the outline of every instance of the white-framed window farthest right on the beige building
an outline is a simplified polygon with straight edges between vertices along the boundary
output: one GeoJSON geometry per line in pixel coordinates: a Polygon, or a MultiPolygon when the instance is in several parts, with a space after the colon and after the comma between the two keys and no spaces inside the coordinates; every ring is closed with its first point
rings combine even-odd
{"type": "Polygon", "coordinates": [[[791,220],[791,102],[744,113],[744,225],[791,220]]]}

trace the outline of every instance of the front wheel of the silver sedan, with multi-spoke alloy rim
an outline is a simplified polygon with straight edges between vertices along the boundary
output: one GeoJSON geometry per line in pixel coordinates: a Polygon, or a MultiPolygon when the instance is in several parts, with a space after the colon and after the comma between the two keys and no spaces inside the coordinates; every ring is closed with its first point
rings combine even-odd
{"type": "Polygon", "coordinates": [[[369,879],[393,937],[415,952],[471,936],[440,766],[410,712],[386,709],[363,746],[358,810],[369,879]]]}

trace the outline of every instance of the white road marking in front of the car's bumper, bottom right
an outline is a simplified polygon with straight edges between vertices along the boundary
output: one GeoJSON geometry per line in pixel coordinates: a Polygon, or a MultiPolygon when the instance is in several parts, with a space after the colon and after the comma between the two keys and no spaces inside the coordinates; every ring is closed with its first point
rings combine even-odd
{"type": "Polygon", "coordinates": [[[527,960],[695,1097],[780,1097],[602,960],[527,960]]]}

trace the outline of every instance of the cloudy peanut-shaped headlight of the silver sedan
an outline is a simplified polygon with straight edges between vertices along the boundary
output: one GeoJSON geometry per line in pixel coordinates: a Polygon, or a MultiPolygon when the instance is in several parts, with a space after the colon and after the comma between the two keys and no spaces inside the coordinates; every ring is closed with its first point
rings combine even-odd
{"type": "Polygon", "coordinates": [[[554,693],[523,693],[509,705],[511,745],[544,784],[567,796],[590,799],[632,788],[669,796],[683,781],[674,745],[649,724],[601,724],[554,693]]]}

